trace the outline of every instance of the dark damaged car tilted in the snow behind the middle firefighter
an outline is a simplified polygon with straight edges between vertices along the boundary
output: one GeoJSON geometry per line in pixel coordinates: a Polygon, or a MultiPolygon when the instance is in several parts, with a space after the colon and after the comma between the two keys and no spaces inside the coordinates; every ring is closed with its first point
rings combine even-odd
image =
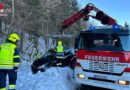
{"type": "MultiPolygon", "coordinates": [[[[62,62],[62,67],[74,67],[75,53],[73,48],[64,48],[65,54],[62,62]]],[[[36,74],[39,70],[44,72],[47,68],[56,67],[56,52],[54,49],[48,50],[41,58],[36,59],[31,65],[32,73],[36,74]]]]}

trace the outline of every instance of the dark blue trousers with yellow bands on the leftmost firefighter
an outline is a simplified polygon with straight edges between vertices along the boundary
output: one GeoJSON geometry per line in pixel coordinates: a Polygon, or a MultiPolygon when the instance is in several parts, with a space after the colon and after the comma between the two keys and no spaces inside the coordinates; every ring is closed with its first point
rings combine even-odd
{"type": "Polygon", "coordinates": [[[17,72],[14,70],[0,69],[0,90],[6,90],[6,76],[9,78],[8,90],[15,90],[17,72]]]}

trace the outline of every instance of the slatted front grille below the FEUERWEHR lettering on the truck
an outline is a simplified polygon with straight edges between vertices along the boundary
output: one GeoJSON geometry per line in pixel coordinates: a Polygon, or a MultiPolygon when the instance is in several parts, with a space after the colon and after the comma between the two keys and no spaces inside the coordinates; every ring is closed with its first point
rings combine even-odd
{"type": "Polygon", "coordinates": [[[89,60],[89,70],[102,71],[102,72],[114,72],[114,63],[89,60]]]}

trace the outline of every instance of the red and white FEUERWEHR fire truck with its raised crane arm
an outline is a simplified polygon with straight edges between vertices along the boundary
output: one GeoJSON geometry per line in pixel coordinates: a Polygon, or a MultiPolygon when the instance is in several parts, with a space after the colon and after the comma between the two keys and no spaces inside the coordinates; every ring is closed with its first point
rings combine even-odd
{"type": "Polygon", "coordinates": [[[74,77],[81,85],[115,90],[130,90],[130,30],[116,20],[87,4],[62,23],[62,32],[76,21],[89,17],[105,26],[90,26],[75,41],[76,66],[74,77]],[[91,11],[96,16],[89,15],[91,11]]]}

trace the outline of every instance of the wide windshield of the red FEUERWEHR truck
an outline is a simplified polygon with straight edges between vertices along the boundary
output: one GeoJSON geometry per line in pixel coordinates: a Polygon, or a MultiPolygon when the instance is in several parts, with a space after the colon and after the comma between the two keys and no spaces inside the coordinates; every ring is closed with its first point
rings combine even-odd
{"type": "Polygon", "coordinates": [[[130,51],[130,35],[87,33],[79,38],[78,49],[130,51]]]}

